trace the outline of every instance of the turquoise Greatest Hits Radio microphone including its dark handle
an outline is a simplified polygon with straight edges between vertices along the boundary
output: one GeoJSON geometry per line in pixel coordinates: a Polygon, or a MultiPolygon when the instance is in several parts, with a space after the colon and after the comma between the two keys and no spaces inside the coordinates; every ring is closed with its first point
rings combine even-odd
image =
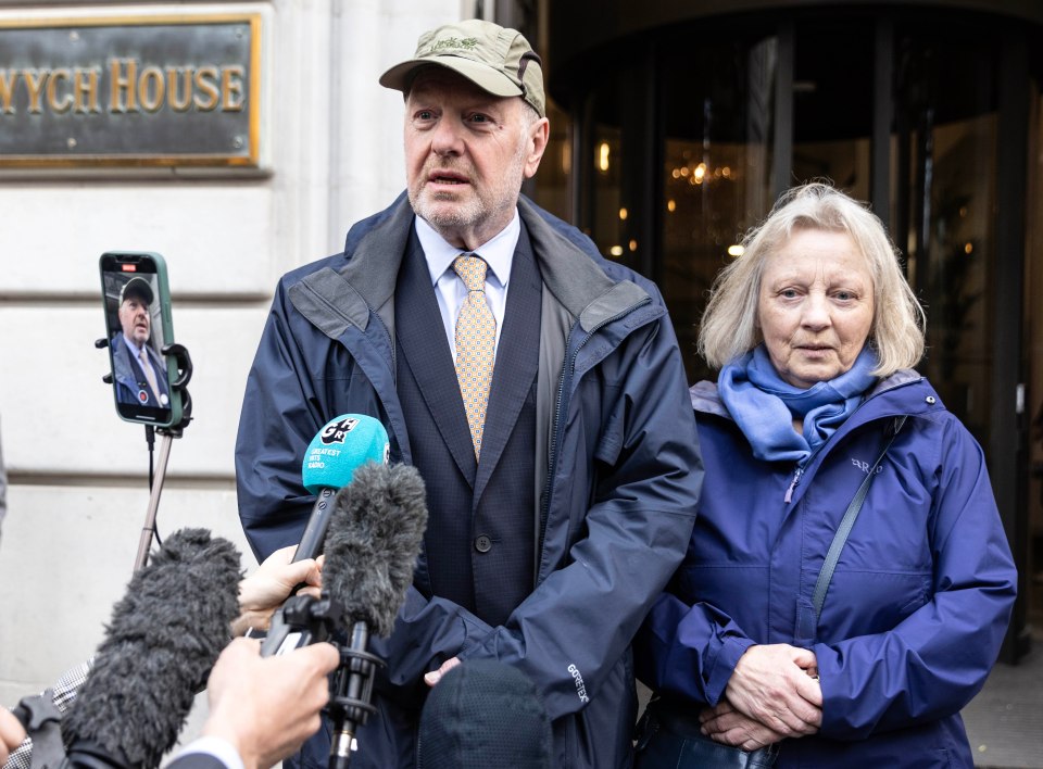
{"type": "Polygon", "coordinates": [[[323,552],[337,490],[351,483],[355,469],[366,463],[388,464],[389,451],[387,430],[370,416],[341,414],[323,426],[307,444],[301,466],[304,488],[315,494],[315,506],[293,554],[294,564],[323,552]]]}

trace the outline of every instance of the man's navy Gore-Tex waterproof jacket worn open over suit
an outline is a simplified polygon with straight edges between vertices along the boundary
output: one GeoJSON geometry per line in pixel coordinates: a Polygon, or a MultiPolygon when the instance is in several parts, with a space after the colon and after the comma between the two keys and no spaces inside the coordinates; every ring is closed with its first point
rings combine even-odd
{"type": "MultiPolygon", "coordinates": [[[[702,480],[695,423],[655,287],[525,199],[518,210],[544,283],[541,360],[560,370],[549,403],[537,403],[549,429],[536,463],[546,478],[533,510],[540,525],[527,534],[540,556],[536,585],[504,626],[489,627],[426,593],[422,554],[394,632],[370,645],[388,665],[353,768],[413,766],[422,677],[454,655],[529,676],[552,719],[555,766],[630,764],[630,642],[691,534],[702,480]]],[[[257,558],[300,540],[314,500],[301,459],[327,420],[374,416],[391,461],[410,462],[390,326],[412,228],[402,196],[352,227],[344,253],[290,273],[277,289],[236,449],[240,517],[257,558]]],[[[325,767],[327,755],[314,743],[310,751],[304,764],[325,767]]]]}

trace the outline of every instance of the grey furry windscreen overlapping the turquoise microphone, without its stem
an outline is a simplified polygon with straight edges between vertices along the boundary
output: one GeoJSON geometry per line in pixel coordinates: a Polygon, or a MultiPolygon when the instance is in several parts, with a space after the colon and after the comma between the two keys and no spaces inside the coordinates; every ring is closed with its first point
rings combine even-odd
{"type": "Polygon", "coordinates": [[[344,605],[352,622],[390,635],[427,527],[424,479],[411,465],[364,465],[334,504],[324,592],[344,605]]]}

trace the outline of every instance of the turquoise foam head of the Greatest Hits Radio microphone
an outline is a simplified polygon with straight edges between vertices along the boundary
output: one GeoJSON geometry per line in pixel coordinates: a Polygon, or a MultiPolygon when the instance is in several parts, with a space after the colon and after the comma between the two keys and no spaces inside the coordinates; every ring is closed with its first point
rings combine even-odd
{"type": "Polygon", "coordinates": [[[351,483],[355,468],[369,462],[387,464],[388,431],[365,414],[341,414],[330,419],[307,444],[301,477],[313,494],[351,483]]]}

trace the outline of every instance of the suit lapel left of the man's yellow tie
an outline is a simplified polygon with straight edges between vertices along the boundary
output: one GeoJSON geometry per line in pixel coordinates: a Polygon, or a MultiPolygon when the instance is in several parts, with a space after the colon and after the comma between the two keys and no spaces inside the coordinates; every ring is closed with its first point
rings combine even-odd
{"type": "Polygon", "coordinates": [[[403,360],[435,418],[438,431],[467,482],[475,482],[475,449],[456,369],[442,330],[438,301],[419,241],[414,234],[402,263],[394,303],[395,336],[403,360]]]}

